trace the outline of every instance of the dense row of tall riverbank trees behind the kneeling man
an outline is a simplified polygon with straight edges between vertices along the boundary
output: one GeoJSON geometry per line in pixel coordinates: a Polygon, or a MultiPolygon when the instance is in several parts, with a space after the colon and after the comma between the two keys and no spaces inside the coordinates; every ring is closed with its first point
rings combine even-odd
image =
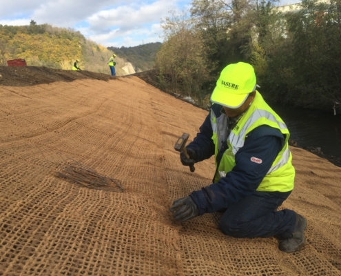
{"type": "Polygon", "coordinates": [[[303,0],[298,10],[284,14],[278,12],[277,3],[193,0],[190,18],[165,24],[167,39],[158,54],[161,80],[176,90],[188,87],[180,75],[186,70],[178,68],[197,60],[195,55],[183,57],[186,37],[203,46],[200,57],[211,62],[209,77],[200,83],[202,90],[211,92],[227,64],[247,61],[254,66],[267,99],[330,110],[341,101],[341,1],[303,0]]]}

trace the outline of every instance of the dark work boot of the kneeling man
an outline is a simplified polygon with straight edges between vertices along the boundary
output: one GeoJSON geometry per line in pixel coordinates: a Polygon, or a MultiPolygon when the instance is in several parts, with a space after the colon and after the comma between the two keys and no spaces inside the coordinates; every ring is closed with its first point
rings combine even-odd
{"type": "Polygon", "coordinates": [[[296,214],[296,224],[293,233],[280,241],[280,250],[285,253],[292,253],[302,249],[305,244],[304,230],[307,228],[307,219],[296,214]]]}

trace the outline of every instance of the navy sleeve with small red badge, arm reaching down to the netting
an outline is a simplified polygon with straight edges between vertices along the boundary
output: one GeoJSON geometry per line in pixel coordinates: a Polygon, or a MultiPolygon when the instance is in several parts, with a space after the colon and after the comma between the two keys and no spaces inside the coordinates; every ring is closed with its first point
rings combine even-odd
{"type": "Polygon", "coordinates": [[[199,208],[199,215],[226,209],[254,193],[283,144],[284,137],[275,128],[260,126],[250,132],[244,146],[236,153],[236,166],[226,177],[190,195],[199,208]],[[254,163],[251,157],[262,159],[262,163],[254,163]]]}

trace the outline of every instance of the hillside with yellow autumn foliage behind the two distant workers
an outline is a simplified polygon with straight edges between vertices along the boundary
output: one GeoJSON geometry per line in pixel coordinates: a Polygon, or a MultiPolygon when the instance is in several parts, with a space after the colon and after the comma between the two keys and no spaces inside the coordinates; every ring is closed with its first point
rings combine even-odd
{"type": "MultiPolygon", "coordinates": [[[[48,24],[30,26],[0,25],[0,66],[8,59],[25,59],[28,66],[71,70],[79,59],[81,70],[110,74],[107,65],[113,52],[85,39],[78,31],[57,28],[48,24]]],[[[124,57],[116,57],[116,75],[132,73],[131,65],[124,57]]]]}

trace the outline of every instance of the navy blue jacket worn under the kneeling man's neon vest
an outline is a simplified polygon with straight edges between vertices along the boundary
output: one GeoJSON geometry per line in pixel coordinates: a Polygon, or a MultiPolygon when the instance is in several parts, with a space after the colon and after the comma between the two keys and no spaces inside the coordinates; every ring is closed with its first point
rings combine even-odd
{"type": "MultiPolygon", "coordinates": [[[[214,109],[216,116],[219,117],[222,106],[214,104],[212,109],[214,109]]],[[[196,162],[209,159],[214,155],[210,113],[199,130],[200,132],[198,132],[194,141],[187,146],[187,148],[196,151],[196,162]]],[[[236,166],[231,172],[227,172],[226,177],[220,178],[217,183],[194,191],[190,195],[199,208],[199,215],[225,210],[231,204],[254,193],[262,179],[267,175],[284,143],[285,137],[276,128],[258,126],[258,128],[249,132],[244,146],[236,153],[236,166]],[[252,162],[251,157],[262,159],[262,163],[252,162]]],[[[218,154],[218,164],[226,149],[227,143],[225,142],[218,154]]]]}

